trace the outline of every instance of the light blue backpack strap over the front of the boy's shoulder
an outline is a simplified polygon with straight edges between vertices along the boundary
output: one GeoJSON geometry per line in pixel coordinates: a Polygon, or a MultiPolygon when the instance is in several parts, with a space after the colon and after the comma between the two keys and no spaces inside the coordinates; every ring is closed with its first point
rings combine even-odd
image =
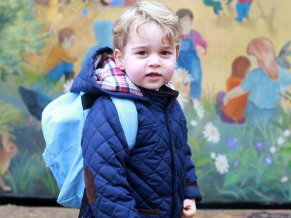
{"type": "Polygon", "coordinates": [[[112,95],[110,95],[110,97],[117,109],[119,121],[122,125],[125,138],[127,139],[129,150],[131,150],[136,144],[136,134],[138,130],[136,104],[134,104],[133,100],[114,97],[112,95]]]}

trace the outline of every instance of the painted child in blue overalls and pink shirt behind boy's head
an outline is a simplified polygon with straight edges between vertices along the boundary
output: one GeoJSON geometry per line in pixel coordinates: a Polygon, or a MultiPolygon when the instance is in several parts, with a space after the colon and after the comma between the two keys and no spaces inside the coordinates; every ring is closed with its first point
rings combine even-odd
{"type": "Polygon", "coordinates": [[[193,81],[190,83],[190,98],[200,98],[202,93],[202,71],[196,48],[197,46],[201,46],[206,54],[207,43],[196,30],[192,29],[193,13],[190,10],[180,9],[176,12],[176,15],[178,15],[182,27],[181,50],[177,65],[178,67],[187,69],[188,74],[192,76],[193,81]]]}

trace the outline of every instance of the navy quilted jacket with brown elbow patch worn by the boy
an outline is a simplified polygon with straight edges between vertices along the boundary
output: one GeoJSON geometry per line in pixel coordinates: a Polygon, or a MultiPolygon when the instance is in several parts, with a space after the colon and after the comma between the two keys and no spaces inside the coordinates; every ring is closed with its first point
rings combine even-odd
{"type": "Polygon", "coordinates": [[[167,86],[141,89],[143,97],[98,87],[96,51],[75,79],[72,92],[100,95],[84,125],[82,150],[89,203],[84,217],[181,217],[183,200],[201,200],[190,161],[186,119],[167,86]],[[138,112],[136,145],[131,151],[108,95],[134,100],[138,112]]]}

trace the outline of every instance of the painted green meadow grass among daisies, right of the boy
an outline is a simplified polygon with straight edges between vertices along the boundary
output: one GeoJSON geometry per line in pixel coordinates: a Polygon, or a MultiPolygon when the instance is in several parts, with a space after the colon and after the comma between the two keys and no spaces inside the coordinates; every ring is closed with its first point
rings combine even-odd
{"type": "Polygon", "coordinates": [[[195,111],[190,111],[187,121],[188,142],[204,200],[290,201],[291,136],[285,137],[283,132],[291,130],[291,110],[281,109],[278,123],[254,126],[250,123],[223,123],[214,111],[213,95],[202,97],[202,104],[207,106],[205,117],[199,120],[195,111]],[[195,127],[190,125],[193,119],[198,121],[195,127]],[[217,144],[207,142],[202,133],[209,122],[219,130],[217,144]],[[283,144],[278,144],[279,138],[283,139],[283,144]],[[238,144],[232,149],[228,147],[230,139],[235,139],[238,144]],[[258,149],[258,142],[264,147],[258,149]],[[271,153],[271,148],[276,151],[271,153]],[[225,174],[216,169],[212,153],[226,156],[229,168],[225,174]]]}

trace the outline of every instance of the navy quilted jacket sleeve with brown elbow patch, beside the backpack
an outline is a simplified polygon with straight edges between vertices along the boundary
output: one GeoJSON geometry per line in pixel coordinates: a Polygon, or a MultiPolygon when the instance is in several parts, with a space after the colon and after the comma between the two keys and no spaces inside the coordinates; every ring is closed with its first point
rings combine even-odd
{"type": "Polygon", "coordinates": [[[140,217],[128,191],[127,141],[108,96],[98,98],[86,118],[82,151],[86,191],[94,217],[140,217]]]}

